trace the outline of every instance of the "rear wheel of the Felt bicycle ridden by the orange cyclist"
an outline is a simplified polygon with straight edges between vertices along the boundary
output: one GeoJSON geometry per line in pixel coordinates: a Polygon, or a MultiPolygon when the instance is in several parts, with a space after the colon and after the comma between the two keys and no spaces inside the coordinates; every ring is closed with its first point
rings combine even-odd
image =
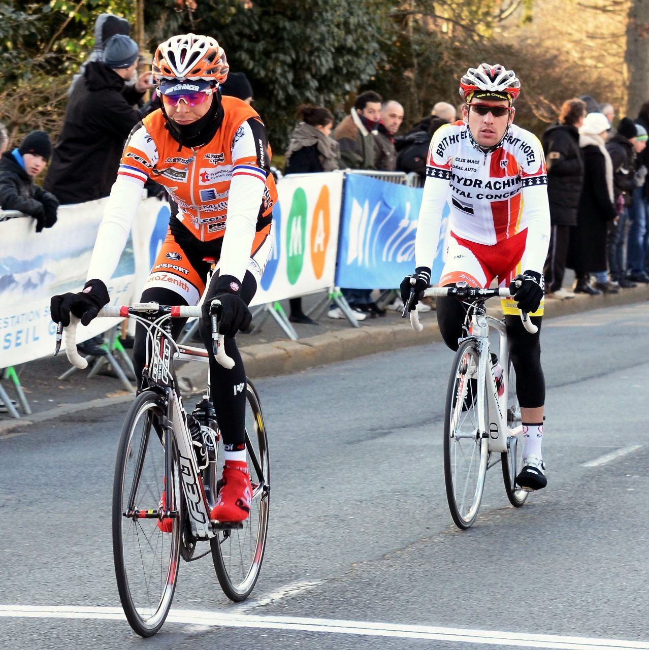
{"type": "MultiPolygon", "coordinates": [[[[266,547],[271,498],[270,464],[266,427],[259,396],[250,380],[246,404],[246,460],[252,482],[250,515],[243,528],[220,530],[210,539],[214,568],[228,598],[245,600],[253,590],[266,547]]],[[[217,458],[217,467],[222,465],[217,458]]]]}

